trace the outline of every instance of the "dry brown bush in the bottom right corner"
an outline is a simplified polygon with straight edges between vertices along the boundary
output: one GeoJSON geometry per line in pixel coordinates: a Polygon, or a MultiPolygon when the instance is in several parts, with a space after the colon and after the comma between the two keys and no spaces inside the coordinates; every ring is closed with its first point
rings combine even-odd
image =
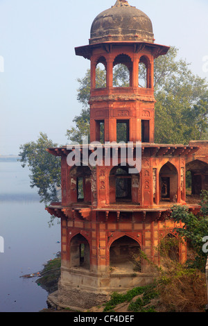
{"type": "Polygon", "coordinates": [[[207,304],[205,273],[187,268],[169,259],[162,271],[157,291],[168,312],[202,312],[207,304]]]}

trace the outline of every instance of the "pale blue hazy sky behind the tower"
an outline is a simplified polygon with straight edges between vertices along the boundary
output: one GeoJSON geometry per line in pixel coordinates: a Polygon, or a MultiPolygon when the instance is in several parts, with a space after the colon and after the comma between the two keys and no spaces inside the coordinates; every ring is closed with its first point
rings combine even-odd
{"type": "MultiPolygon", "coordinates": [[[[41,131],[67,143],[67,128],[82,109],[77,78],[89,68],[74,48],[88,44],[94,18],[115,2],[0,0],[0,155],[17,155],[41,131]]],[[[177,46],[193,73],[208,80],[207,0],[129,3],[150,17],[155,43],[177,46]]]]}

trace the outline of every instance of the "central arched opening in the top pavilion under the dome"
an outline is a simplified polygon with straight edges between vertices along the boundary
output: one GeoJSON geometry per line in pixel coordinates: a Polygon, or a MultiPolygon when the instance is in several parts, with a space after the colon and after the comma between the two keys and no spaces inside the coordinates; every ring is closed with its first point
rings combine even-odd
{"type": "Polygon", "coordinates": [[[119,54],[113,62],[113,86],[132,86],[132,60],[126,54],[119,54]]]}

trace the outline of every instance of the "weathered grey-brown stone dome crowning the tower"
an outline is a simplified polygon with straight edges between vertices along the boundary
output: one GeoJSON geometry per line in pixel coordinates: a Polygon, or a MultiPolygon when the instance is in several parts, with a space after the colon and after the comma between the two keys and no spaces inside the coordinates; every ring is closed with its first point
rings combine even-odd
{"type": "Polygon", "coordinates": [[[154,42],[153,25],[141,10],[128,1],[116,0],[112,8],[101,12],[92,23],[89,44],[107,41],[154,42]]]}

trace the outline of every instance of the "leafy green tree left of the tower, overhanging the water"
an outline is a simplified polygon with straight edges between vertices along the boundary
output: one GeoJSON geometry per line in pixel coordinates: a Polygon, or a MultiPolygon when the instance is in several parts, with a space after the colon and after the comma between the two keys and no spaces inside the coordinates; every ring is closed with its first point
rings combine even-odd
{"type": "Polygon", "coordinates": [[[37,187],[40,202],[45,204],[57,202],[60,188],[60,157],[55,157],[46,148],[57,147],[46,134],[40,132],[37,141],[31,141],[20,146],[19,162],[31,171],[31,188],[37,187]]]}

